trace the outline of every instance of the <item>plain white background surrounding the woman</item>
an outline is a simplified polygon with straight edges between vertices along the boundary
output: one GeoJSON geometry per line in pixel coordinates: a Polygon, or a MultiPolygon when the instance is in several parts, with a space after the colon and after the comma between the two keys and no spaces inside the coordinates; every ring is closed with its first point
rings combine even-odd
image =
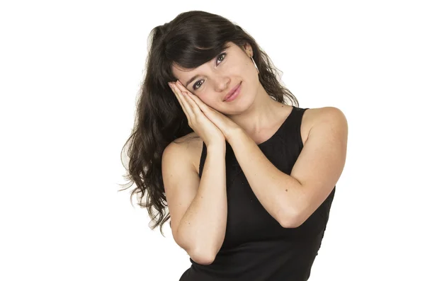
{"type": "Polygon", "coordinates": [[[179,280],[130,204],[149,31],[204,10],[248,31],[301,108],[346,115],[348,154],[310,280],[425,280],[421,1],[1,1],[0,280],[179,280]],[[149,3],[152,2],[152,3],[149,3]]]}

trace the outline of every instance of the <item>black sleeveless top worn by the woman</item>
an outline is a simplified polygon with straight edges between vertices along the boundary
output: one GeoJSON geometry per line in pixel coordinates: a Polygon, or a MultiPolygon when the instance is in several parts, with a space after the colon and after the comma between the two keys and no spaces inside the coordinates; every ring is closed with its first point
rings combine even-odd
{"type": "MultiPolygon", "coordinates": [[[[258,144],[280,171],[290,175],[302,150],[300,126],[308,108],[296,108],[270,139],[258,144]]],[[[227,226],[225,240],[210,265],[190,258],[179,281],[302,281],[310,277],[329,219],[335,188],[297,228],[287,229],[261,205],[229,143],[226,143],[227,226]]],[[[199,176],[207,149],[203,144],[199,176]]],[[[266,186],[264,188],[267,188],[266,186]]]]}

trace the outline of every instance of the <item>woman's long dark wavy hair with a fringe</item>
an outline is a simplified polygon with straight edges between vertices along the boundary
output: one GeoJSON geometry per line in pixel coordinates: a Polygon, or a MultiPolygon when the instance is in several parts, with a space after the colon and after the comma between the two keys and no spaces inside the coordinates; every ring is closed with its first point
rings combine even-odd
{"type": "Polygon", "coordinates": [[[130,202],[133,195],[140,195],[137,203],[147,208],[151,222],[154,222],[151,229],[160,225],[164,236],[162,226],[169,219],[169,212],[165,216],[167,205],[162,180],[162,153],[168,144],[193,132],[167,84],[177,80],[171,72],[173,63],[194,69],[219,55],[227,42],[239,47],[249,43],[259,68],[259,81],[268,95],[280,103],[288,104],[286,100],[290,100],[299,105],[293,93],[280,84],[281,71],[274,67],[254,38],[222,16],[205,11],[180,13],[173,21],[155,27],[149,38],[152,39],[145,79],[137,100],[135,125],[123,147],[124,150],[129,146],[128,174],[125,175],[129,186],[123,190],[136,183],[130,202]],[[145,193],[146,200],[142,202],[145,193]]]}

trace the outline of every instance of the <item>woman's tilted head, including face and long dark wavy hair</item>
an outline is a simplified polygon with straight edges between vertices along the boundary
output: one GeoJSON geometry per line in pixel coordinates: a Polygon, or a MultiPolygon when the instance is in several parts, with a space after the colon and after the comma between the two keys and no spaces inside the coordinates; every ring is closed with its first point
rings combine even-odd
{"type": "MultiPolygon", "coordinates": [[[[279,82],[278,69],[239,25],[212,13],[188,11],[169,23],[155,27],[150,41],[145,79],[137,101],[135,125],[129,145],[128,175],[140,194],[139,205],[147,207],[154,222],[152,229],[169,219],[164,217],[166,198],[162,182],[162,152],[177,138],[193,132],[169,81],[179,79],[204,103],[222,113],[232,113],[235,105],[222,99],[241,84],[241,106],[252,102],[256,86],[271,98],[297,104],[297,99],[279,82]],[[225,54],[223,54],[225,53],[225,54]],[[251,61],[253,57],[259,72],[251,61]],[[142,199],[146,196],[146,202],[142,199]],[[156,210],[156,212],[154,212],[156,210]]],[[[237,101],[237,100],[235,100],[237,101]]],[[[130,188],[128,186],[128,188],[130,188]]],[[[127,188],[125,188],[127,189],[127,188]]],[[[130,197],[130,199],[131,199],[130,197]]]]}

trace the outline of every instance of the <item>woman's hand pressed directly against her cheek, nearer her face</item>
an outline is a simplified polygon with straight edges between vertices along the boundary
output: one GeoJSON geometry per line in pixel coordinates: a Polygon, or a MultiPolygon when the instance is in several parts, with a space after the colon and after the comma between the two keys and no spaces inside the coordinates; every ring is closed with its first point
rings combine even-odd
{"type": "MultiPolygon", "coordinates": [[[[187,112],[190,112],[189,116],[204,115],[208,118],[208,120],[210,120],[210,122],[212,122],[216,127],[218,127],[218,129],[220,129],[225,139],[227,140],[229,140],[229,138],[232,136],[232,134],[234,134],[234,132],[237,132],[237,130],[240,129],[239,125],[229,119],[229,117],[223,115],[214,108],[211,108],[210,106],[206,105],[197,96],[193,95],[193,93],[188,91],[188,89],[185,88],[183,84],[180,83],[180,81],[177,81],[175,83],[175,87],[176,91],[174,93],[178,93],[176,96],[178,96],[179,98],[179,95],[181,95],[179,101],[183,100],[186,102],[183,103],[183,106],[185,106],[183,110],[186,110],[186,116],[188,116],[187,112]],[[186,93],[186,95],[182,95],[182,93],[186,93]]],[[[202,117],[200,118],[202,120],[202,117]]]]}

